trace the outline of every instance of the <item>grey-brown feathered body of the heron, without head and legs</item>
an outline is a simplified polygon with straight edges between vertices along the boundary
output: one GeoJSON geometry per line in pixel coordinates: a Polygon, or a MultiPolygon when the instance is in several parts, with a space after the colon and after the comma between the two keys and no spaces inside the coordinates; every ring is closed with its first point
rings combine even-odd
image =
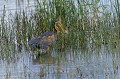
{"type": "Polygon", "coordinates": [[[57,40],[57,34],[53,32],[45,32],[38,37],[34,37],[29,41],[31,47],[37,47],[47,49],[55,40],[57,40]]]}

